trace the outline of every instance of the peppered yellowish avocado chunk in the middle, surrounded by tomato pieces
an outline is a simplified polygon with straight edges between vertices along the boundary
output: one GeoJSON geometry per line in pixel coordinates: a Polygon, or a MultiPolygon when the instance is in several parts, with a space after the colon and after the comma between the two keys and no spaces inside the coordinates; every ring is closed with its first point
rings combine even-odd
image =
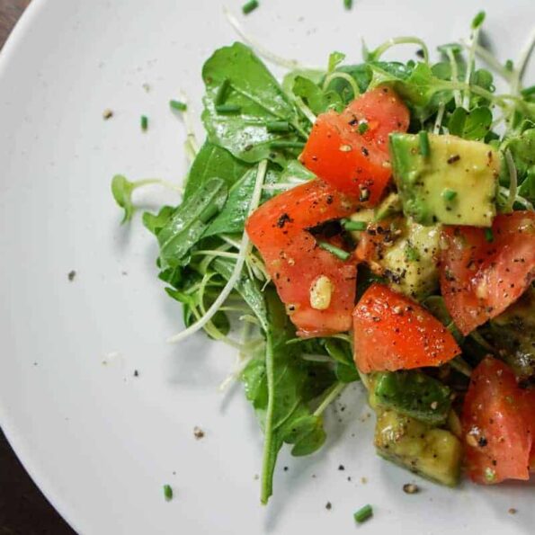
{"type": "Polygon", "coordinates": [[[424,227],[411,219],[396,219],[397,239],[379,256],[381,274],[394,290],[423,299],[439,285],[441,227],[424,227]]]}

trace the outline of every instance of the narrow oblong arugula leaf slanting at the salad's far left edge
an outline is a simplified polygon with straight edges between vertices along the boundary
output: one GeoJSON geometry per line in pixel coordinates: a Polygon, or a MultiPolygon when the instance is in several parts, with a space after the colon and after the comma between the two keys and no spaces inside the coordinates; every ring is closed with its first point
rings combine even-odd
{"type": "Polygon", "coordinates": [[[211,178],[183,201],[167,219],[158,234],[160,266],[176,267],[209,226],[210,219],[221,210],[227,200],[227,186],[220,178],[211,178]]]}

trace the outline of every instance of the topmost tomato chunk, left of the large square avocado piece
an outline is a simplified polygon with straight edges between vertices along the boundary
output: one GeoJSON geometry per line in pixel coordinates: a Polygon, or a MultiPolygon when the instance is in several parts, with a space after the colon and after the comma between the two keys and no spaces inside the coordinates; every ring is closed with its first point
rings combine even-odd
{"type": "Polygon", "coordinates": [[[408,125],[406,105],[392,89],[378,87],[342,113],[319,115],[300,160],[337,190],[358,195],[373,206],[392,174],[388,134],[405,132],[408,125]],[[367,125],[365,131],[362,123],[367,125]]]}

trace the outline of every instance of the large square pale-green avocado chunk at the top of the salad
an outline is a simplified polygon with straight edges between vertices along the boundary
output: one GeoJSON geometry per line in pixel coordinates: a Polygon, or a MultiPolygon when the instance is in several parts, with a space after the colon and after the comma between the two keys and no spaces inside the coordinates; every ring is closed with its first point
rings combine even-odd
{"type": "Polygon", "coordinates": [[[406,216],[421,225],[490,227],[500,173],[498,153],[485,143],[428,134],[421,153],[413,134],[391,134],[394,180],[406,216]]]}

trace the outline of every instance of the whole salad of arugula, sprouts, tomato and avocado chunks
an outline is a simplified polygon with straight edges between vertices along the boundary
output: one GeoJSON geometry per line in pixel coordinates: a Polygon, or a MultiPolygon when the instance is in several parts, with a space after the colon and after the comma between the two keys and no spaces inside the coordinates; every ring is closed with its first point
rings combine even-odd
{"type": "MultiPolygon", "coordinates": [[[[254,44],[202,67],[206,139],[188,127],[182,202],[143,223],[183,308],[171,341],[203,330],[236,348],[227,382],[263,432],[263,504],[281,448],[321,448],[325,409],[355,381],[385,459],[447,486],[535,468],[533,39],[502,64],[484,19],[436,62],[404,37],[359,64],[286,61],[281,81],[254,44]],[[414,60],[382,58],[407,43],[414,60]]],[[[113,178],[124,220],[154,182],[113,178]]]]}

